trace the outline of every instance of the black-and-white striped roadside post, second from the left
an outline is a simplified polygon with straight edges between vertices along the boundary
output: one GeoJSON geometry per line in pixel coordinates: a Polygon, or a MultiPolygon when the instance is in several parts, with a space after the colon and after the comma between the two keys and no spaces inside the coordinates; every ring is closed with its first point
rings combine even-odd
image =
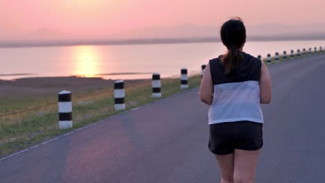
{"type": "Polygon", "coordinates": [[[114,83],[115,111],[125,110],[124,98],[125,98],[124,80],[117,80],[114,83]]]}

